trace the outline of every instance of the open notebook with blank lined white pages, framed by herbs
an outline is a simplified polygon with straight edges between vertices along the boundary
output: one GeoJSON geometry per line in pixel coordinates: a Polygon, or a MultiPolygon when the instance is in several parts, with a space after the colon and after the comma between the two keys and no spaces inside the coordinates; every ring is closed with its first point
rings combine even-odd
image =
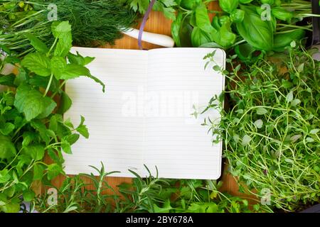
{"type": "MultiPolygon", "coordinates": [[[[93,172],[88,165],[120,171],[116,177],[143,177],[149,167],[159,177],[218,179],[222,143],[212,143],[203,118],[219,119],[218,111],[196,118],[224,87],[223,75],[204,66],[208,48],[162,48],[116,50],[73,48],[73,52],[95,57],[87,65],[106,84],[87,77],[68,81],[65,91],[73,106],[64,118],[74,123],[85,116],[90,138],[73,145],[65,155],[65,172],[93,172]]],[[[216,49],[215,62],[225,65],[225,52],[216,49]]]]}

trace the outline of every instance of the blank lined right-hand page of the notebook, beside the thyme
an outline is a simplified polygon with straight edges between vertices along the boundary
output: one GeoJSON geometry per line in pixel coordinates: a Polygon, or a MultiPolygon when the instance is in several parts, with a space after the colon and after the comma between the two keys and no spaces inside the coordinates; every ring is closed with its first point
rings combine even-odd
{"type": "MultiPolygon", "coordinates": [[[[144,162],[158,167],[160,177],[218,179],[221,170],[221,143],[213,144],[203,118],[219,120],[218,111],[201,112],[210,99],[221,94],[224,78],[206,70],[213,52],[208,48],[166,48],[149,50],[149,116],[146,116],[146,153],[144,162]],[[194,109],[193,109],[194,107],[194,109]]],[[[225,65],[225,52],[217,49],[215,62],[225,65]]],[[[210,67],[211,66],[211,67],[210,67]]]]}

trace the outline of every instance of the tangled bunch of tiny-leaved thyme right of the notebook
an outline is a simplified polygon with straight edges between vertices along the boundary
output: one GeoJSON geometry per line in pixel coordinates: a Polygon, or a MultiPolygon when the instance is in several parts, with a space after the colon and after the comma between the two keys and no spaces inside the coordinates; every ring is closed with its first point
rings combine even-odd
{"type": "Polygon", "coordinates": [[[230,172],[247,186],[242,191],[297,211],[319,203],[320,62],[295,42],[287,50],[250,67],[228,59],[230,109],[214,97],[208,108],[218,108],[222,119],[205,123],[223,139],[230,172]]]}

